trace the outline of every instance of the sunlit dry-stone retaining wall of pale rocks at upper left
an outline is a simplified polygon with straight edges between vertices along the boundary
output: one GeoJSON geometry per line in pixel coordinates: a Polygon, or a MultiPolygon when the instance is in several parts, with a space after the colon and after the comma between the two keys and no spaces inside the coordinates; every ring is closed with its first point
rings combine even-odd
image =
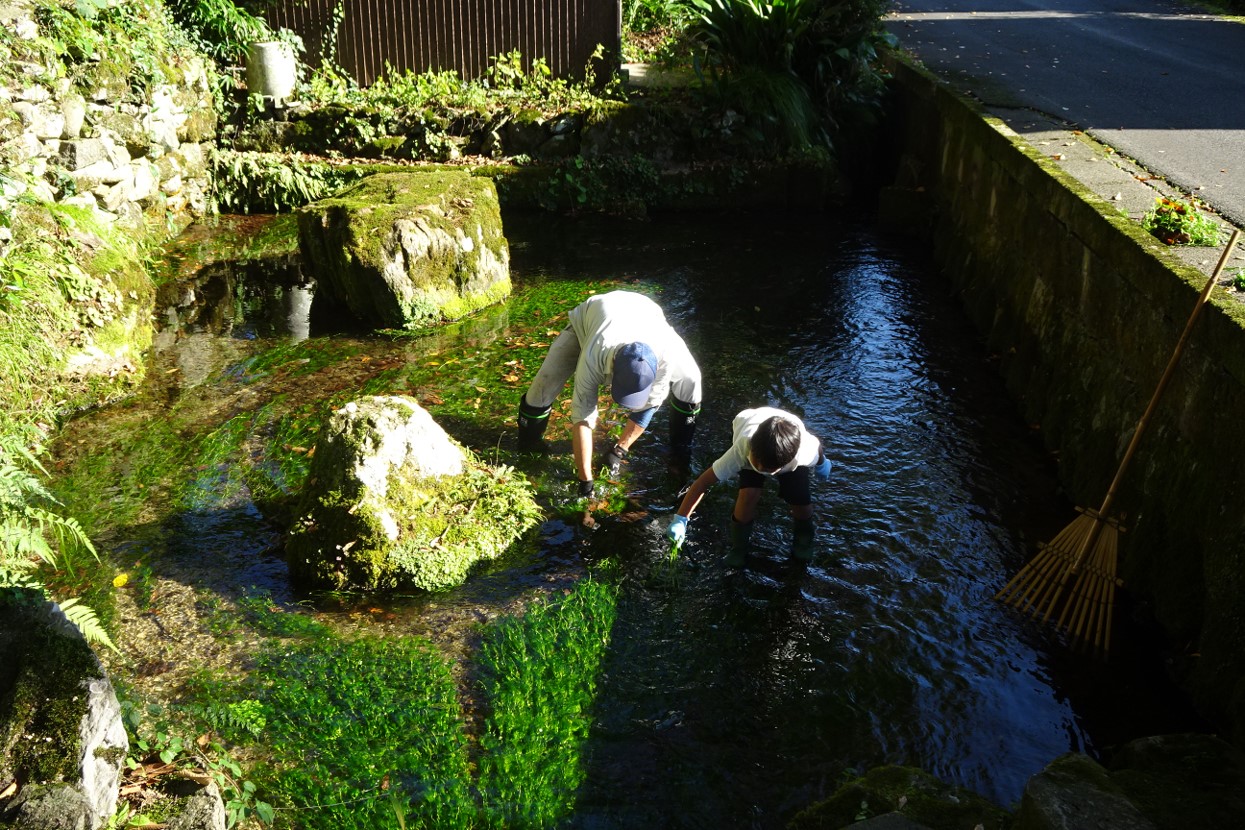
{"type": "MultiPolygon", "coordinates": [[[[0,26],[17,55],[46,36],[29,0],[0,0],[0,26]]],[[[0,76],[10,78],[0,82],[0,169],[14,179],[6,190],[97,207],[131,226],[144,217],[184,225],[208,210],[217,131],[209,68],[193,54],[169,55],[139,83],[107,57],[75,65],[77,83],[35,62],[0,76]]]]}

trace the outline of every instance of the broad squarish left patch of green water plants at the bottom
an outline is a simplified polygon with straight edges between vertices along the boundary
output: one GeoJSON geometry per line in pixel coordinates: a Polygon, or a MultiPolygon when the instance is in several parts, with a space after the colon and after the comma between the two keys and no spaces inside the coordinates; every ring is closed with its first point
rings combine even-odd
{"type": "Polygon", "coordinates": [[[448,663],[417,637],[271,642],[256,661],[263,784],[315,830],[473,826],[467,739],[448,663]]]}

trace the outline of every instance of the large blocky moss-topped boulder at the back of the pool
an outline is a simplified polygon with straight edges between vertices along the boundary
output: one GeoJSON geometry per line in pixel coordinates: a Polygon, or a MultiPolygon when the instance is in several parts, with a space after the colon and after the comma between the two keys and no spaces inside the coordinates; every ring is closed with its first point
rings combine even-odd
{"type": "Polygon", "coordinates": [[[458,320],[510,294],[497,188],[463,170],[370,175],[299,212],[316,302],[365,324],[458,320]]]}

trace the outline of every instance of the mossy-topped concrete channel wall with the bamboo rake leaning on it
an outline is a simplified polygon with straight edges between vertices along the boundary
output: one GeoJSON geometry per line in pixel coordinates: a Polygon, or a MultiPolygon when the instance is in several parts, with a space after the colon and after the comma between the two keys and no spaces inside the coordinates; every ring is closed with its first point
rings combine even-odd
{"type": "MultiPolygon", "coordinates": [[[[1206,275],[974,102],[900,60],[891,68],[895,172],[881,220],[929,241],[1069,497],[1098,508],[1206,275]]],[[[1120,483],[1129,601],[1116,622],[1128,612],[1162,625],[1178,679],[1238,745],[1243,428],[1245,307],[1220,289],[1120,483]]]]}

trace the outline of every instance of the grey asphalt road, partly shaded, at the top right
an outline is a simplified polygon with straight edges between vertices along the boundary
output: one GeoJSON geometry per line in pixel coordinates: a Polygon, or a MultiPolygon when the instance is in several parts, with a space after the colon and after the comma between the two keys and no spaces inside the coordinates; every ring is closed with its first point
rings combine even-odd
{"type": "Polygon", "coordinates": [[[886,27],[984,106],[1062,119],[1245,226],[1245,22],[1167,0],[895,0],[886,27]]]}

